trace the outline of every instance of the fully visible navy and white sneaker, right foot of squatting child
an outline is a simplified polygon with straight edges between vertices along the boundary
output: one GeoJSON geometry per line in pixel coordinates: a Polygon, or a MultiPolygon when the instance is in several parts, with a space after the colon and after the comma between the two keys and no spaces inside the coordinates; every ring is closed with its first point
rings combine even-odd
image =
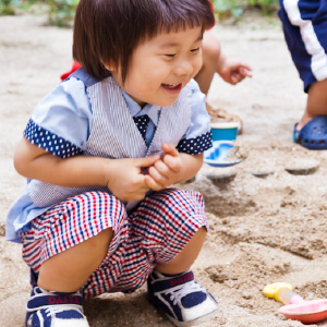
{"type": "Polygon", "coordinates": [[[147,280],[149,302],[162,310],[178,327],[189,327],[208,320],[218,310],[214,296],[194,280],[191,270],[165,276],[154,270],[147,280]]]}

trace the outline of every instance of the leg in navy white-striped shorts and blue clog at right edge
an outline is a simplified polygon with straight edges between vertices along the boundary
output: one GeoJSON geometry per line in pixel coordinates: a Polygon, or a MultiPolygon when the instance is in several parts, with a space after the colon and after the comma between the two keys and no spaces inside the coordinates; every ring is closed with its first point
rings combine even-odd
{"type": "Polygon", "coordinates": [[[326,149],[326,1],[279,0],[279,3],[284,38],[307,93],[305,112],[293,128],[293,141],[310,149],[326,149]]]}

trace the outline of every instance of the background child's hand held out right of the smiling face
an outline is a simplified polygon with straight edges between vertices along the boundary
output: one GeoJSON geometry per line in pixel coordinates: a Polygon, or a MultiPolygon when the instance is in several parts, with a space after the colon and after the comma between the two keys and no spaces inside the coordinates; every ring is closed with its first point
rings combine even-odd
{"type": "Polygon", "coordinates": [[[232,85],[238,84],[245,77],[252,77],[251,66],[235,59],[221,58],[217,73],[225,82],[232,85]]]}

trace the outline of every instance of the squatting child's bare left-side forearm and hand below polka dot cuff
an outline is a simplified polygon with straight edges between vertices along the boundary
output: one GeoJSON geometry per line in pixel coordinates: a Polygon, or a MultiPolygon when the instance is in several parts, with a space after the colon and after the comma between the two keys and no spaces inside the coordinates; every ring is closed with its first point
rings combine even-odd
{"type": "Polygon", "coordinates": [[[107,159],[101,157],[56,157],[21,140],[14,155],[16,171],[28,178],[61,186],[107,186],[121,201],[142,199],[149,190],[142,173],[159,156],[146,158],[107,159]]]}

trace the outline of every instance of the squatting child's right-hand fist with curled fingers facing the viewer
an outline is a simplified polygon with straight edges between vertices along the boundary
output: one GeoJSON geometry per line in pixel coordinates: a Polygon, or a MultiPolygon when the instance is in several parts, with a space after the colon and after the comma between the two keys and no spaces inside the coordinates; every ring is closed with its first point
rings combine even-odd
{"type": "Polygon", "coordinates": [[[162,144],[164,155],[148,169],[145,182],[148,187],[159,191],[180,180],[182,159],[172,144],[162,144]]]}

